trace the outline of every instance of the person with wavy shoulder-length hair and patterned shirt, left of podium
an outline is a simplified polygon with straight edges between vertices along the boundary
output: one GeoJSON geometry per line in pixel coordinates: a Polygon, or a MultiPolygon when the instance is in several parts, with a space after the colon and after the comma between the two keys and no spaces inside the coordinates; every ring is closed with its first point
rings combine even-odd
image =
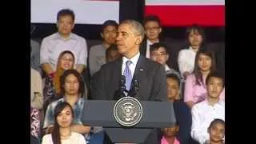
{"type": "Polygon", "coordinates": [[[84,105],[84,82],[77,70],[66,70],[61,77],[61,90],[63,97],[51,102],[47,107],[43,128],[49,134],[54,126],[54,108],[59,102],[68,102],[74,108],[74,123],[71,130],[80,134],[88,134],[90,126],[83,126],[81,122],[82,109],[84,105]]]}

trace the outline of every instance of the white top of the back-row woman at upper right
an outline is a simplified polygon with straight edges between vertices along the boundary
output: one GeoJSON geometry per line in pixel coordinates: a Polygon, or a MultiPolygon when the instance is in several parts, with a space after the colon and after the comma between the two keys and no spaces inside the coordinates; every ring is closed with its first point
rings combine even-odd
{"type": "Polygon", "coordinates": [[[182,78],[186,71],[188,71],[190,74],[193,72],[196,54],[197,53],[194,52],[191,46],[189,49],[180,50],[178,52],[178,69],[182,78]]]}

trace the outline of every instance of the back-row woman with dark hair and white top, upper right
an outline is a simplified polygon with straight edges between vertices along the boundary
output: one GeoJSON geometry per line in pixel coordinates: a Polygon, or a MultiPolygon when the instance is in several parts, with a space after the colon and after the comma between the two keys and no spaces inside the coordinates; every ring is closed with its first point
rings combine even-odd
{"type": "Polygon", "coordinates": [[[204,31],[198,25],[190,26],[186,30],[189,46],[178,52],[178,69],[182,78],[186,78],[188,74],[193,72],[195,55],[203,45],[204,37],[204,31]]]}

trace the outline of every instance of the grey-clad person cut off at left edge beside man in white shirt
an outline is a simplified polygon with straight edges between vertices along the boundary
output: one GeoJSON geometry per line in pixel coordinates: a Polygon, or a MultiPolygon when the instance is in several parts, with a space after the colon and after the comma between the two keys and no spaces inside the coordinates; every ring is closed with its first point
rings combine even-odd
{"type": "Polygon", "coordinates": [[[38,70],[42,75],[42,67],[40,64],[40,45],[38,42],[30,39],[30,66],[34,70],[38,70]]]}

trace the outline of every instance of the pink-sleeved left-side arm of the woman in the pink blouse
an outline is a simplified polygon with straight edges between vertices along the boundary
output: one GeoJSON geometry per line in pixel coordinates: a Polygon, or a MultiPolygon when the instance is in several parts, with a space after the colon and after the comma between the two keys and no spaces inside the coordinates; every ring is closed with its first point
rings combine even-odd
{"type": "Polygon", "coordinates": [[[194,105],[194,75],[189,75],[186,78],[185,88],[184,88],[184,102],[190,108],[194,105]]]}

